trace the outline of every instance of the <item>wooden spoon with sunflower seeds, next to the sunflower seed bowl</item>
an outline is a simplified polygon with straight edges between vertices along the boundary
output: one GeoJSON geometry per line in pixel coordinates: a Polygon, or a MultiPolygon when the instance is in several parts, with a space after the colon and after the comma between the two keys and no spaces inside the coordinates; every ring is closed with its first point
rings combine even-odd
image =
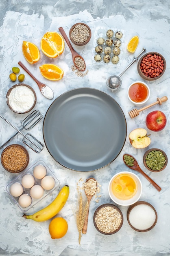
{"type": "Polygon", "coordinates": [[[72,47],[72,45],[71,45],[71,43],[70,43],[70,41],[69,41],[67,35],[65,34],[64,29],[63,29],[62,27],[59,27],[59,31],[60,31],[61,35],[63,36],[63,38],[65,39],[66,43],[68,44],[68,47],[70,48],[70,51],[71,51],[71,53],[72,53],[73,63],[74,63],[74,65],[75,65],[75,67],[76,67],[78,70],[84,71],[84,70],[85,70],[85,61],[84,61],[83,57],[82,57],[81,55],[79,55],[79,54],[73,49],[73,47],[72,47]],[[75,58],[81,58],[82,62],[84,62],[83,65],[80,65],[80,66],[79,66],[79,65],[76,65],[76,62],[77,62],[77,61],[75,60],[75,58]]]}

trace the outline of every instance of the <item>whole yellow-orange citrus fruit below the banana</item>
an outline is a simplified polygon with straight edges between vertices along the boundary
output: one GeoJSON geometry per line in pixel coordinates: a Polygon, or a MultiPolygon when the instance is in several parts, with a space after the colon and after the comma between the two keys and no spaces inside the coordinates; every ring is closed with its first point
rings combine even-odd
{"type": "Polygon", "coordinates": [[[68,223],[65,219],[57,217],[49,224],[49,233],[52,239],[62,238],[68,231],[68,223]]]}

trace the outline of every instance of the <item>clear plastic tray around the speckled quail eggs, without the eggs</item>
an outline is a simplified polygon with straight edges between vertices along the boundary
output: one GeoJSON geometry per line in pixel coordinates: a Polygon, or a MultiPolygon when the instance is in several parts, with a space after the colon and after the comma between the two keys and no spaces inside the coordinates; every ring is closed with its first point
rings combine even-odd
{"type": "MultiPolygon", "coordinates": [[[[96,64],[96,65],[101,65],[101,66],[102,66],[102,65],[105,65],[105,66],[112,66],[112,67],[120,67],[120,66],[121,66],[121,63],[122,63],[122,56],[123,56],[124,33],[125,33],[125,31],[124,31],[123,29],[120,29],[120,28],[96,27],[95,32],[94,32],[94,41],[93,41],[93,47],[92,47],[92,48],[93,48],[93,49],[92,49],[92,63],[93,63],[93,64],[96,64]],[[102,57],[102,61],[96,62],[96,61],[94,60],[94,56],[97,54],[96,51],[95,51],[95,47],[98,45],[97,40],[98,40],[99,37],[103,37],[103,38],[105,39],[105,41],[106,41],[106,39],[108,39],[108,37],[107,37],[107,35],[106,35],[106,32],[107,32],[107,30],[109,30],[109,29],[112,29],[113,32],[114,32],[113,37],[111,37],[111,38],[113,39],[113,42],[114,42],[114,40],[117,39],[117,38],[115,37],[115,33],[116,33],[117,31],[121,31],[122,34],[123,34],[122,38],[119,39],[122,44],[121,44],[121,46],[119,47],[119,48],[120,48],[120,54],[118,55],[118,56],[119,56],[119,62],[118,62],[117,64],[113,64],[111,61],[110,61],[109,63],[105,63],[105,62],[103,61],[103,57],[104,57],[104,55],[105,55],[105,53],[104,53],[104,48],[105,48],[106,46],[108,46],[108,45],[106,45],[106,43],[104,43],[103,45],[101,45],[101,46],[103,47],[103,52],[100,54],[100,56],[102,57]]],[[[114,56],[114,54],[113,54],[112,51],[113,51],[113,48],[114,48],[115,46],[114,46],[114,44],[113,44],[113,45],[111,45],[110,47],[111,47],[111,54],[109,54],[109,55],[110,55],[110,57],[112,58],[112,57],[114,56]]]]}

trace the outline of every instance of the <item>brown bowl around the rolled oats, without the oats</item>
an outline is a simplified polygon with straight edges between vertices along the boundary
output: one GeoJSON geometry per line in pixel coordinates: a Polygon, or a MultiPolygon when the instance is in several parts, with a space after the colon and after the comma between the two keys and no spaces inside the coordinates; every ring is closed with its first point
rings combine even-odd
{"type": "Polygon", "coordinates": [[[121,229],[122,225],[123,225],[123,214],[122,214],[122,212],[120,211],[120,209],[119,209],[116,205],[114,205],[114,204],[102,204],[102,205],[100,205],[100,206],[96,209],[96,211],[94,212],[93,222],[94,222],[94,226],[96,227],[96,229],[97,229],[101,234],[104,234],[104,235],[113,235],[113,234],[115,234],[116,232],[118,232],[118,231],[121,229]],[[121,222],[120,222],[120,225],[118,226],[118,228],[117,228],[115,231],[112,231],[112,232],[109,232],[109,233],[101,231],[101,230],[98,228],[98,226],[97,226],[97,224],[96,224],[96,220],[95,220],[98,211],[99,211],[100,209],[104,208],[104,207],[112,207],[113,209],[116,209],[116,211],[117,211],[118,213],[120,213],[120,216],[121,216],[121,222]]]}

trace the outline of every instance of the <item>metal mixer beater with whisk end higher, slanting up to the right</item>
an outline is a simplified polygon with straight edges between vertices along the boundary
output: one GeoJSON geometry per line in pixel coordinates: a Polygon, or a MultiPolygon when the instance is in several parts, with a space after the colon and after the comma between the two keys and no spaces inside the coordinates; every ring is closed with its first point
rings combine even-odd
{"type": "MultiPolygon", "coordinates": [[[[43,118],[43,115],[39,112],[39,110],[34,110],[30,115],[28,115],[21,123],[22,128],[25,130],[30,130],[33,128],[41,119],[43,118]]],[[[16,132],[11,138],[9,138],[0,148],[3,148],[9,141],[11,141],[19,132],[16,132]]]]}

